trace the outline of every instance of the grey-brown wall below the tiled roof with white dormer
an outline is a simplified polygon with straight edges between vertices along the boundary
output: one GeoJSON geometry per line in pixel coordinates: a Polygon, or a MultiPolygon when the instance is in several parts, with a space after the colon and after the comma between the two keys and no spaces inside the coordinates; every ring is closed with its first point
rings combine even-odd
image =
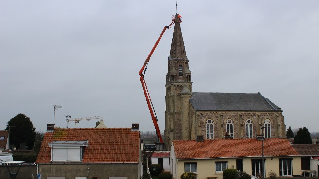
{"type": "Polygon", "coordinates": [[[128,177],[128,179],[139,179],[140,170],[138,163],[117,163],[117,164],[38,164],[41,178],[65,177],[97,177],[108,179],[109,177],[128,177]]]}

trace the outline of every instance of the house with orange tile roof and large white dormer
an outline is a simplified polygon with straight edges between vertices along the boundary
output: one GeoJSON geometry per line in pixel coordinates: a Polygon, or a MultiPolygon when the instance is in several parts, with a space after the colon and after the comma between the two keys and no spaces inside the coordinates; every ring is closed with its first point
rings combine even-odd
{"type": "Polygon", "coordinates": [[[132,128],[54,129],[36,163],[42,179],[139,179],[140,132],[132,128]]]}

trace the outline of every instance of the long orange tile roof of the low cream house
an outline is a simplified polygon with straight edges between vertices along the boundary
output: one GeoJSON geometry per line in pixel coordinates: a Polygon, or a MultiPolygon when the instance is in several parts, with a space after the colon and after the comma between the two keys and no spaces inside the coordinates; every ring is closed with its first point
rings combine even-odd
{"type": "MultiPolygon", "coordinates": [[[[261,141],[256,139],[175,140],[177,159],[261,156],[261,141]]],[[[299,155],[286,138],[264,141],[265,156],[299,155]]]]}

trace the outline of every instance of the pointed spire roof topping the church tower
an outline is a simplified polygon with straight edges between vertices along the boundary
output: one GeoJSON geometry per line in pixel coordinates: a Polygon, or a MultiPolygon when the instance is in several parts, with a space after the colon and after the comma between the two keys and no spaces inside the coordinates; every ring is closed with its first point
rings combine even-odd
{"type": "Polygon", "coordinates": [[[178,14],[175,15],[175,26],[173,32],[173,39],[171,44],[170,59],[185,59],[187,60],[182,30],[180,28],[180,20],[178,14]]]}

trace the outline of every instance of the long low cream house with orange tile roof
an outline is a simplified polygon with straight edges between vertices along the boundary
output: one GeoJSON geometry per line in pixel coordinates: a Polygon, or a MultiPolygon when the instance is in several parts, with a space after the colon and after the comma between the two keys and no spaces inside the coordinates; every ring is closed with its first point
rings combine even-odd
{"type": "MultiPolygon", "coordinates": [[[[301,174],[299,153],[286,138],[265,139],[263,144],[266,177],[270,171],[278,176],[301,174]]],[[[198,179],[222,179],[227,168],[253,176],[264,173],[262,141],[256,139],[174,140],[170,160],[175,179],[184,172],[195,172],[198,179]]]]}

